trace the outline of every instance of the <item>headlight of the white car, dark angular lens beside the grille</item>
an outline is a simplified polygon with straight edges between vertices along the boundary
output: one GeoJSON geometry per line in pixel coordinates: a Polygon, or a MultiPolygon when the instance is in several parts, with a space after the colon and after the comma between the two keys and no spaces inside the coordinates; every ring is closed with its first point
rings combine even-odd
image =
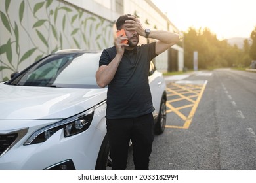
{"type": "Polygon", "coordinates": [[[62,120],[60,122],[56,122],[51,125],[47,125],[43,127],[35,133],[33,133],[30,138],[24,143],[24,145],[37,144],[41,142],[45,142],[49,139],[54,133],[56,133],[59,129],[64,129],[64,137],[70,137],[77,133],[81,133],[89,128],[91,122],[93,120],[94,108],[90,108],[85,112],[62,120]]]}

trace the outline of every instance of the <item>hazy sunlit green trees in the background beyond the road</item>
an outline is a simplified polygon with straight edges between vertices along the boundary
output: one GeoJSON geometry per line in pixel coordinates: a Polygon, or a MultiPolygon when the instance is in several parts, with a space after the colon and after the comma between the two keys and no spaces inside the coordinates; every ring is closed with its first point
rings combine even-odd
{"type": "MultiPolygon", "coordinates": [[[[256,38],[256,31],[255,31],[256,38]]],[[[256,41],[255,41],[256,44],[256,41]]],[[[219,41],[208,28],[190,27],[184,33],[184,66],[193,69],[193,52],[198,52],[198,68],[214,69],[219,67],[248,67],[249,43],[244,42],[244,49],[230,46],[227,41],[219,41]]],[[[256,54],[256,50],[254,51],[256,54]]]]}

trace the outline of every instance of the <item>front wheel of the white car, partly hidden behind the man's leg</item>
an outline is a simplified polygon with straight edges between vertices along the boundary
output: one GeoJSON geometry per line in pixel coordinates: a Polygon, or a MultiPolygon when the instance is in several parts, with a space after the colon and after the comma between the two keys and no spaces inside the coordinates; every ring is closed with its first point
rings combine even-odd
{"type": "Polygon", "coordinates": [[[110,144],[108,142],[108,136],[104,137],[102,145],[100,147],[100,152],[98,153],[98,159],[96,161],[96,170],[106,170],[111,169],[112,159],[110,154],[110,144]]]}

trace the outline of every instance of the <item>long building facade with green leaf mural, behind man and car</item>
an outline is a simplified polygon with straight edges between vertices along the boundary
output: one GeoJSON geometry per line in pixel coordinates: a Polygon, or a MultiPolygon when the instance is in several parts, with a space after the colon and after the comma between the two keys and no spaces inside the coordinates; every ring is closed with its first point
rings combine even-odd
{"type": "MultiPolygon", "coordinates": [[[[150,0],[1,0],[0,82],[56,50],[113,46],[116,19],[128,13],[138,16],[144,27],[179,33],[150,0]]],[[[151,41],[140,38],[140,44],[151,41]]],[[[170,49],[175,51],[155,59],[156,67],[181,71],[183,49],[178,45],[170,49]],[[170,69],[173,62],[177,64],[170,69]]]]}

